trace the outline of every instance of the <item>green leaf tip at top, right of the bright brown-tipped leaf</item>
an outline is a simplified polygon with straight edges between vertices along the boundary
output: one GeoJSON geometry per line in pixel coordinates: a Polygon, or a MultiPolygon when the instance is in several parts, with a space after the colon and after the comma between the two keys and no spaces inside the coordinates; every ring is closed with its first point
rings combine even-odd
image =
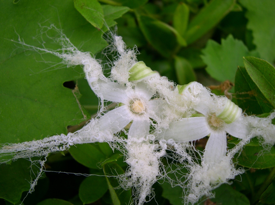
{"type": "Polygon", "coordinates": [[[124,13],[128,12],[130,9],[126,6],[112,6],[112,5],[102,5],[104,20],[108,27],[116,25],[115,19],[121,17],[124,13]]]}

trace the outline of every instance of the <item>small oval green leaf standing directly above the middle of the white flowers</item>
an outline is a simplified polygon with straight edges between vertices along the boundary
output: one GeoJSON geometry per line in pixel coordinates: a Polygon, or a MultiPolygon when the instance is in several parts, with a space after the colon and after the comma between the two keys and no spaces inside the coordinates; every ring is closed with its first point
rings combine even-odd
{"type": "Polygon", "coordinates": [[[176,56],[175,69],[176,69],[178,83],[180,85],[185,85],[192,81],[196,81],[196,75],[193,71],[193,68],[186,59],[176,56]]]}

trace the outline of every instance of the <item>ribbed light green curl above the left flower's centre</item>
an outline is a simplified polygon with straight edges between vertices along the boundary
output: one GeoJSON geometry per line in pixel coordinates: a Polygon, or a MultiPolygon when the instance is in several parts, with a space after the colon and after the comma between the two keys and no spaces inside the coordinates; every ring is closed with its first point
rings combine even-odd
{"type": "Polygon", "coordinates": [[[157,74],[156,71],[152,71],[151,68],[147,67],[143,61],[135,63],[129,70],[129,73],[129,81],[139,81],[142,78],[148,77],[152,74],[157,74]]]}

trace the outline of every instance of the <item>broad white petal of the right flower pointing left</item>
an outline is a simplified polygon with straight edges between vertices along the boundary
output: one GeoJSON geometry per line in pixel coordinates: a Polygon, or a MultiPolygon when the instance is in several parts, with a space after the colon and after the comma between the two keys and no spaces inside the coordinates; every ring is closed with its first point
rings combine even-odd
{"type": "Polygon", "coordinates": [[[170,124],[158,138],[173,139],[175,142],[188,142],[205,137],[211,132],[205,117],[182,118],[170,124]]]}

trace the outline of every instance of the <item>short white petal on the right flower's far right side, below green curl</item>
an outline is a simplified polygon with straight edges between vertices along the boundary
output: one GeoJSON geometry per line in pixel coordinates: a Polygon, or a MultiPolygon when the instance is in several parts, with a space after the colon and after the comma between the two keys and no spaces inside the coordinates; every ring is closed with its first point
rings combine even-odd
{"type": "Polygon", "coordinates": [[[228,124],[226,132],[234,137],[243,139],[250,134],[250,127],[244,117],[240,117],[235,122],[228,124]]]}

